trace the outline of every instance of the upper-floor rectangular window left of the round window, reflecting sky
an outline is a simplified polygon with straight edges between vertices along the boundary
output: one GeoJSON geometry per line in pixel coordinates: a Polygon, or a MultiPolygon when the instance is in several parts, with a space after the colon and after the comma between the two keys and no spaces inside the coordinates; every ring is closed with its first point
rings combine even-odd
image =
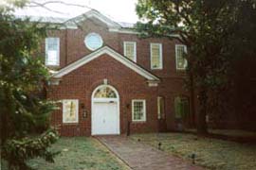
{"type": "Polygon", "coordinates": [[[60,65],[60,38],[46,38],[46,65],[60,65]]]}

